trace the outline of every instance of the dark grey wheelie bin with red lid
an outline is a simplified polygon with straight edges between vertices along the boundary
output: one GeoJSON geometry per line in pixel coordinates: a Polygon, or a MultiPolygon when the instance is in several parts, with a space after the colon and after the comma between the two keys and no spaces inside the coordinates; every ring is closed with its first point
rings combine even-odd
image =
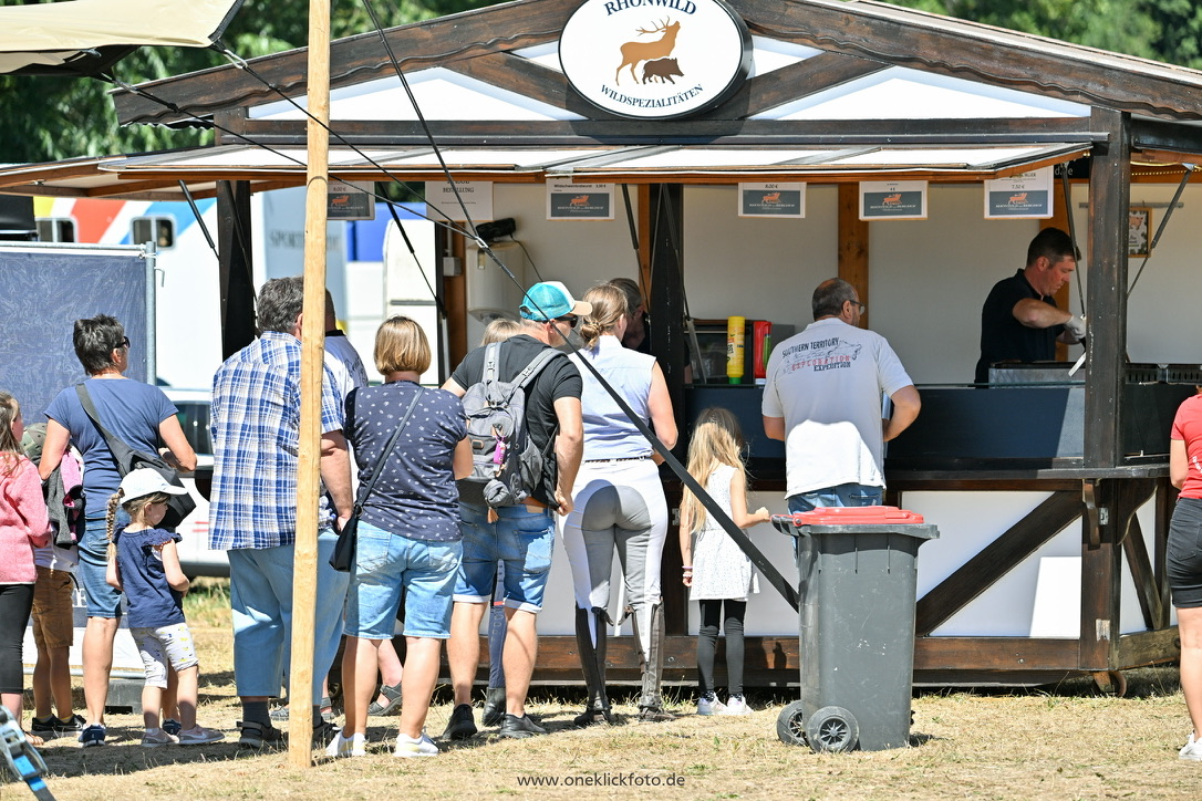
{"type": "Polygon", "coordinates": [[[897,507],[828,507],[773,516],[795,537],[801,700],[776,735],[814,751],[910,742],[918,546],[939,537],[897,507]]]}

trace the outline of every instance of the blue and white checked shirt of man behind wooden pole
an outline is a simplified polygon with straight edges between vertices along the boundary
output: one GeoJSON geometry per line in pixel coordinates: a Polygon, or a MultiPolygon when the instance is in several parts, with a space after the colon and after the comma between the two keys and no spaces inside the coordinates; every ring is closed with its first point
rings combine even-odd
{"type": "MultiPolygon", "coordinates": [[[[344,399],[329,367],[321,384],[321,431],[340,431],[344,399]]],[[[213,377],[213,491],[209,544],[276,548],[296,540],[300,428],[300,340],[264,331],[213,377]]],[[[321,521],[329,521],[322,497],[321,521]]]]}

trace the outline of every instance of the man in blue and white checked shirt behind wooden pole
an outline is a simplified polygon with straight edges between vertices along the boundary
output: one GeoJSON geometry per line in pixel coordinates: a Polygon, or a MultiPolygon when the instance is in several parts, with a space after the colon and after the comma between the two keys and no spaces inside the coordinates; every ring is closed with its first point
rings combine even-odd
{"type": "MultiPolygon", "coordinates": [[[[303,298],[299,276],[263,285],[258,339],[226,359],[213,378],[209,539],[212,548],[230,556],[233,668],[243,707],[239,743],[251,748],[282,739],[272,727],[267,704],[279,694],[292,638],[303,298]]],[[[320,465],[326,496],[317,532],[314,704],[338,650],[347,585],[347,575],[328,564],[337,539],[335,510],[345,522],[352,504],[344,401],[325,367],[320,465]]],[[[333,728],[316,709],[313,719],[314,739],[327,740],[327,729],[333,728]]]]}

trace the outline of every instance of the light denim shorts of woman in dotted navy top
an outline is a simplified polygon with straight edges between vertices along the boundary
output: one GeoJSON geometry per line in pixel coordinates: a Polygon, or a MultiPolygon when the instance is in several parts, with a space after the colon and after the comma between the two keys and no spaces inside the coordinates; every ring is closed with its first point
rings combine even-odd
{"type": "Polygon", "coordinates": [[[359,521],[344,633],[389,640],[405,591],[405,636],[451,635],[451,597],[463,544],[392,534],[359,521]]]}

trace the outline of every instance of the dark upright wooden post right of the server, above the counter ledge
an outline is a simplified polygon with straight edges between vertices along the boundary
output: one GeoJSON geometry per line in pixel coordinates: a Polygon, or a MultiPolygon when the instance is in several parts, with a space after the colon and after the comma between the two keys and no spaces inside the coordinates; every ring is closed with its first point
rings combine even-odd
{"type": "Polygon", "coordinates": [[[1123,382],[1127,324],[1127,215],[1131,207],[1131,139],[1127,114],[1094,109],[1108,131],[1094,150],[1089,178],[1089,339],[1085,376],[1085,467],[1123,464],[1123,382]]]}

